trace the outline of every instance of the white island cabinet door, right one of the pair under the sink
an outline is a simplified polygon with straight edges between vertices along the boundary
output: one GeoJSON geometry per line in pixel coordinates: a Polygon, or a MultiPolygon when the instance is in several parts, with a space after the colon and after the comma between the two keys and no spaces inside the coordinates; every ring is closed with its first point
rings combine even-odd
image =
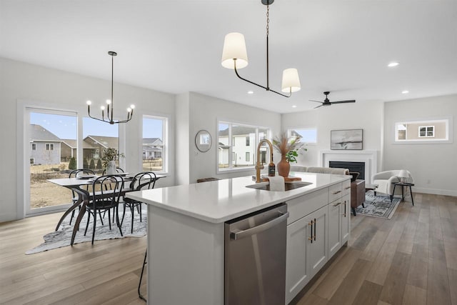
{"type": "Polygon", "coordinates": [[[312,223],[313,240],[308,241],[306,259],[311,277],[328,261],[328,206],[324,206],[305,217],[312,223]]]}

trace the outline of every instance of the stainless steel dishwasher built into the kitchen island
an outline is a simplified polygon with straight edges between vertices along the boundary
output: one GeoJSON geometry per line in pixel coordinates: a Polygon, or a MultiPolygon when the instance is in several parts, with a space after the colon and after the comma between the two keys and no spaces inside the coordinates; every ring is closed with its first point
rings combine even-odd
{"type": "Polygon", "coordinates": [[[287,205],[225,223],[225,305],[278,305],[286,295],[287,205]]]}

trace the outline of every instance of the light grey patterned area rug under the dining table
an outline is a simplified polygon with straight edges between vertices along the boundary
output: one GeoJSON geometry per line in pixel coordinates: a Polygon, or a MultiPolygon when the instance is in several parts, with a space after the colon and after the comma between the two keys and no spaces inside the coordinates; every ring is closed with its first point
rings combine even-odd
{"type": "MultiPolygon", "coordinates": [[[[119,220],[121,220],[122,212],[119,211],[119,220]]],[[[36,246],[34,249],[30,249],[26,251],[26,254],[34,254],[39,253],[42,251],[48,251],[51,249],[61,248],[63,246],[70,246],[71,241],[71,234],[73,234],[73,225],[74,220],[69,224],[71,214],[62,221],[61,226],[59,227],[58,231],[53,231],[49,234],[43,236],[44,243],[36,246]]],[[[87,229],[87,234],[84,236],[84,230],[86,229],[86,221],[87,221],[87,213],[84,215],[83,219],[81,220],[81,224],[79,226],[79,231],[76,233],[76,237],[74,240],[74,244],[80,244],[84,242],[91,242],[92,241],[92,224],[93,224],[93,217],[91,217],[91,221],[89,221],[89,229],[87,229]]],[[[124,219],[124,224],[122,224],[122,234],[119,232],[118,227],[116,224],[111,224],[111,230],[109,229],[108,224],[108,214],[104,217],[104,225],[101,224],[100,219],[97,218],[97,226],[95,231],[95,241],[101,241],[104,239],[122,239],[126,237],[142,237],[146,235],[146,227],[147,227],[147,213],[146,209],[143,209],[143,213],[141,215],[142,221],[140,222],[140,216],[137,211],[134,213],[134,234],[131,234],[131,213],[128,209],[126,211],[126,216],[124,219]]]]}

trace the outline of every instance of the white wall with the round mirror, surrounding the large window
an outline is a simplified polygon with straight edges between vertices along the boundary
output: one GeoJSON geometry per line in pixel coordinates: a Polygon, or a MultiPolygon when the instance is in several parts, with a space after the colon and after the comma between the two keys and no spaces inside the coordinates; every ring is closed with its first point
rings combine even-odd
{"type": "MultiPolygon", "coordinates": [[[[271,128],[273,134],[281,130],[281,114],[258,109],[243,104],[233,103],[216,99],[211,96],[191,93],[190,115],[189,115],[189,173],[190,182],[197,179],[217,177],[220,179],[235,176],[246,176],[255,174],[253,169],[231,172],[230,174],[217,174],[217,147],[218,147],[218,126],[217,121],[231,121],[240,124],[252,124],[271,128]],[[205,129],[211,134],[213,144],[211,149],[202,153],[195,146],[195,135],[205,129]]],[[[276,157],[277,158],[277,157],[276,157]]],[[[279,159],[276,159],[276,163],[279,159]]]]}

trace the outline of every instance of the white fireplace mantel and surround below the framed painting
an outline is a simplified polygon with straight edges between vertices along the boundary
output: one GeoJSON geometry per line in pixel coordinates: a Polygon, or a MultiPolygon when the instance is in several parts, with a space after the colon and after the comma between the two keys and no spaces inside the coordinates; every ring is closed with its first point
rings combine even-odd
{"type": "Polygon", "coordinates": [[[328,167],[329,161],[365,162],[365,180],[371,184],[371,176],[376,174],[378,166],[378,151],[373,150],[329,150],[321,151],[321,166],[328,167]]]}

